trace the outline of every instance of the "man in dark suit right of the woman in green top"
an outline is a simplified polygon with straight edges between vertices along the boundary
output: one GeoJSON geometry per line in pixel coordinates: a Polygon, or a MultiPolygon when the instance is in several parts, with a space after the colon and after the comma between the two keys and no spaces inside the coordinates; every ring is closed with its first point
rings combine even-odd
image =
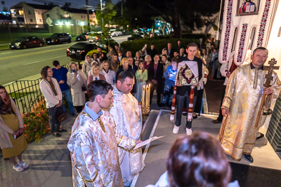
{"type": "Polygon", "coordinates": [[[162,88],[162,77],[164,74],[163,64],[159,63],[159,55],[155,55],[154,63],[151,63],[148,67],[148,83],[150,84],[150,104],[153,97],[153,92],[156,88],[157,92],[157,104],[159,106],[161,102],[161,88],[162,88]]]}

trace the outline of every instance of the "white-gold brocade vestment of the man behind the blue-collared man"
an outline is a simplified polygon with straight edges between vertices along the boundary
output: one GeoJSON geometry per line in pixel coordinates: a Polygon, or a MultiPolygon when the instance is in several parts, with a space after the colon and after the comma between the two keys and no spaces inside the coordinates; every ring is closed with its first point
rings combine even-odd
{"type": "MultiPolygon", "coordinates": [[[[141,108],[138,100],[129,94],[120,92],[117,87],[113,88],[113,103],[110,114],[116,124],[116,132],[123,137],[139,140],[141,137],[142,120],[141,108]]],[[[118,146],[119,162],[122,171],[124,186],[128,186],[133,176],[143,171],[145,167],[141,148],[135,151],[118,146]]]]}

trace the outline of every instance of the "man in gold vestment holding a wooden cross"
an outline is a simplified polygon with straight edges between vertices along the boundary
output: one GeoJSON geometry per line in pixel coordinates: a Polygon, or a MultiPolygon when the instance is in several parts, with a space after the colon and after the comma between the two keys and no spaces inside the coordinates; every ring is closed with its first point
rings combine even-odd
{"type": "Polygon", "coordinates": [[[268,58],[268,50],[256,48],[251,55],[251,63],[238,67],[231,74],[226,87],[226,95],[221,106],[225,116],[218,134],[226,154],[235,161],[242,155],[248,162],[254,162],[251,151],[256,143],[261,124],[262,109],[268,109],[277,99],[281,82],[273,69],[275,59],[263,64],[268,58]]]}

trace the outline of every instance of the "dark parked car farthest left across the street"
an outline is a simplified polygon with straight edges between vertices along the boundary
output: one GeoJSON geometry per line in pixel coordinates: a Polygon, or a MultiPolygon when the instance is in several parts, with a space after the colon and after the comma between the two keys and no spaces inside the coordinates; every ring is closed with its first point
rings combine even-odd
{"type": "Polygon", "coordinates": [[[34,47],[42,47],[44,45],[44,39],[39,39],[36,36],[21,37],[20,39],[10,43],[11,49],[26,49],[34,47]]]}

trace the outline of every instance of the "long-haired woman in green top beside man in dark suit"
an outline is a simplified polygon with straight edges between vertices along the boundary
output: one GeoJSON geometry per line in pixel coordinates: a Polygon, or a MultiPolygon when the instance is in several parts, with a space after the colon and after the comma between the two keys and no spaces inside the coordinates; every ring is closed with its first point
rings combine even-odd
{"type": "Polygon", "coordinates": [[[141,60],[138,63],[138,71],[136,71],[136,99],[141,102],[143,96],[143,85],[146,85],[148,81],[148,70],[145,69],[144,63],[141,60]]]}

